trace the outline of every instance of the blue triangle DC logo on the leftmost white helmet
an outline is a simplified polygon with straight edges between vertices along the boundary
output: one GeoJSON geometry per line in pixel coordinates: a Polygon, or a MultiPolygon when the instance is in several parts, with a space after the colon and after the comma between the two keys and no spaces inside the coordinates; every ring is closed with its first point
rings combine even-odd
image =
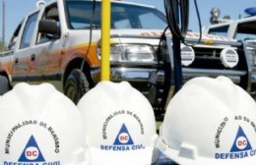
{"type": "Polygon", "coordinates": [[[29,139],[18,161],[19,162],[44,162],[45,161],[33,136],[29,139]]]}

